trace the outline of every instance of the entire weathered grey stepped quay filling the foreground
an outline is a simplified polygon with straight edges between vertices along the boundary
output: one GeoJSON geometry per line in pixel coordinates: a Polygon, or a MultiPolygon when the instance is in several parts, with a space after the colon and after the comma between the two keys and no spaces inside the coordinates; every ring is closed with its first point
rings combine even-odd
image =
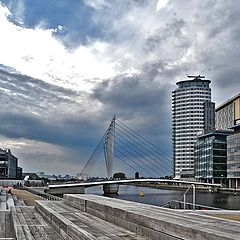
{"type": "Polygon", "coordinates": [[[37,200],[33,207],[4,190],[1,196],[0,239],[240,239],[240,222],[226,219],[238,219],[237,211],[164,209],[92,194],[37,200]]]}

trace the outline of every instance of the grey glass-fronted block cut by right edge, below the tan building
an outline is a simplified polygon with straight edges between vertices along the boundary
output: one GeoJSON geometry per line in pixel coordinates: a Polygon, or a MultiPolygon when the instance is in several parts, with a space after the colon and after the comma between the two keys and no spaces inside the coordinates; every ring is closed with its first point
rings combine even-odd
{"type": "Polygon", "coordinates": [[[230,188],[240,188],[240,121],[232,129],[227,137],[227,178],[230,188]]]}

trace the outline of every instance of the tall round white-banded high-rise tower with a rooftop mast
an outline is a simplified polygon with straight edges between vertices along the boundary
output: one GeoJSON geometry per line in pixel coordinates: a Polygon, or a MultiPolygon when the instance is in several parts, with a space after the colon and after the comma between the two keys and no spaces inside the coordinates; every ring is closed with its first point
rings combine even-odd
{"type": "Polygon", "coordinates": [[[177,82],[172,92],[173,159],[175,178],[194,178],[194,145],[196,136],[206,127],[205,102],[211,102],[210,80],[188,76],[177,82]]]}

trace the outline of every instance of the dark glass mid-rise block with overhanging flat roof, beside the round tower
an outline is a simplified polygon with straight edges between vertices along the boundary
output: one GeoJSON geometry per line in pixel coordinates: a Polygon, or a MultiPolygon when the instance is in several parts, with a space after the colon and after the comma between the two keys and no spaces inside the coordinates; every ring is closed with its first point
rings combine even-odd
{"type": "Polygon", "coordinates": [[[227,137],[230,131],[212,131],[197,137],[195,178],[200,182],[227,184],[227,137]]]}

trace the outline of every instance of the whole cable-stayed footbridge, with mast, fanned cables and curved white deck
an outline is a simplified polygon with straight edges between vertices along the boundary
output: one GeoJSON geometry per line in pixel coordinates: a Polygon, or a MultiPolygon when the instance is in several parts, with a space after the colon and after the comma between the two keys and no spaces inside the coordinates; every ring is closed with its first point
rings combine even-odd
{"type": "Polygon", "coordinates": [[[221,186],[220,184],[207,184],[161,178],[172,174],[173,163],[171,156],[161,151],[157,146],[142,137],[133,129],[129,128],[116,117],[112,119],[110,126],[81,171],[80,175],[82,177],[89,176],[101,154],[105,159],[106,172],[109,180],[50,185],[48,189],[49,193],[59,195],[65,193],[84,193],[85,188],[98,185],[103,186],[103,191],[106,194],[117,193],[119,190],[119,184],[134,182],[159,182],[194,186],[201,185],[214,188],[221,186]],[[144,178],[113,180],[113,169],[116,161],[120,161],[131,170],[139,172],[144,178]]]}

